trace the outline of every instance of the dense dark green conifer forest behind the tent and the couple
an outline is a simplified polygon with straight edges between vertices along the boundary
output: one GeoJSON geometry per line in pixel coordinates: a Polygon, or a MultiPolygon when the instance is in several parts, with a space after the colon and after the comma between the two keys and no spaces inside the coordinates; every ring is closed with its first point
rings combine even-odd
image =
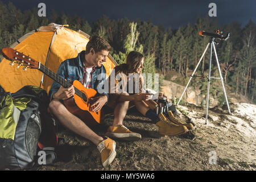
{"type": "MultiPolygon", "coordinates": [[[[162,25],[154,25],[150,20],[113,20],[103,15],[90,24],[86,17],[57,14],[54,10],[46,17],[39,17],[36,8],[21,11],[13,3],[6,5],[0,1],[0,48],[9,47],[27,32],[52,22],[69,24],[69,28],[82,30],[89,35],[103,36],[113,47],[110,53],[119,64],[125,62],[129,51],[140,51],[145,56],[145,73],[162,73],[162,77],[168,79],[171,73],[176,72],[184,78],[183,84],[187,84],[185,81],[188,81],[209,42],[209,37],[200,36],[199,31],[214,32],[218,28],[224,35],[230,32],[230,39],[217,41],[216,45],[224,82],[232,92],[256,102],[256,25],[251,19],[248,19],[245,27],[237,22],[218,27],[217,19],[206,16],[198,17],[195,24],[166,29],[162,25]]],[[[197,77],[191,82],[192,86],[203,92],[207,90],[205,76],[208,76],[209,57],[208,49],[197,68],[197,77]]],[[[214,56],[212,63],[212,76],[219,77],[214,56]]],[[[220,80],[211,80],[210,94],[221,98],[220,103],[224,102],[220,80]]]]}

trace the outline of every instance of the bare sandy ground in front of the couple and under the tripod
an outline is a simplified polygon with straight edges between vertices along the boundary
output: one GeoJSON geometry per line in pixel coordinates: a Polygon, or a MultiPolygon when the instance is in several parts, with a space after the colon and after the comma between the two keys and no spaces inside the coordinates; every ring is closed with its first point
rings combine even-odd
{"type": "MultiPolygon", "coordinates": [[[[160,137],[158,127],[135,110],[124,125],[140,133],[137,142],[117,141],[117,156],[103,168],[96,146],[71,131],[61,129],[64,143],[57,147],[58,160],[41,170],[253,170],[256,169],[256,105],[230,104],[205,109],[193,104],[178,106],[177,117],[196,129],[178,137],[160,137]]],[[[104,135],[112,118],[96,132],[104,135]]]]}

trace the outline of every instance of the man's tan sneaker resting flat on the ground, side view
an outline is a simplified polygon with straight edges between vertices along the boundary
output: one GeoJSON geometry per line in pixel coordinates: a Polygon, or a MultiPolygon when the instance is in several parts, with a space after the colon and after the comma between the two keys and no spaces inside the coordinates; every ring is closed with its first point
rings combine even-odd
{"type": "Polygon", "coordinates": [[[141,139],[141,134],[134,133],[123,125],[109,126],[108,131],[105,135],[111,138],[123,139],[128,141],[136,141],[141,139]]]}

